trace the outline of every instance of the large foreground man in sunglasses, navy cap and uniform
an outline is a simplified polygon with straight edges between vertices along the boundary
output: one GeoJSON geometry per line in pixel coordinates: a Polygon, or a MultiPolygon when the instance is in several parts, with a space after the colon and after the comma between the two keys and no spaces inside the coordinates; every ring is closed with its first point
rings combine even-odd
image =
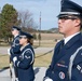
{"type": "Polygon", "coordinates": [[[64,39],[55,46],[43,81],[82,81],[82,6],[73,1],[62,0],[57,17],[64,39]]]}

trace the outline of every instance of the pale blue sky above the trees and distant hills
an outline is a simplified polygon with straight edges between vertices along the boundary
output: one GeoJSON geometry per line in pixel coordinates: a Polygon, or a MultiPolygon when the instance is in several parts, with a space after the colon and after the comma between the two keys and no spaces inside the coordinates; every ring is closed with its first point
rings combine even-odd
{"type": "MultiPolygon", "coordinates": [[[[82,3],[82,0],[76,0],[82,3]]],[[[17,11],[29,10],[36,24],[39,26],[41,12],[41,29],[57,27],[57,15],[60,11],[60,0],[0,0],[0,8],[5,3],[12,4],[17,11]]]]}

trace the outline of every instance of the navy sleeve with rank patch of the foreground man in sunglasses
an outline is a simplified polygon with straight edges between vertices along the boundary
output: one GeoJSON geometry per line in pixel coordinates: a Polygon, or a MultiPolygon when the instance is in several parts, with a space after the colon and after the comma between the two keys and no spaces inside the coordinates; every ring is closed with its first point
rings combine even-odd
{"type": "Polygon", "coordinates": [[[71,81],[82,80],[82,50],[77,54],[72,70],[71,70],[71,81]]]}

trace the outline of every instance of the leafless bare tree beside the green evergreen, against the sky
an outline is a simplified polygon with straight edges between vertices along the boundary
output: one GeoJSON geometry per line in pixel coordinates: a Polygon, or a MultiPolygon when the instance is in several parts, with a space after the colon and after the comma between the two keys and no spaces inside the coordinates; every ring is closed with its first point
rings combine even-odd
{"type": "Polygon", "coordinates": [[[18,12],[18,21],[19,21],[19,26],[25,30],[26,29],[31,30],[36,28],[32,14],[29,11],[18,12]]]}

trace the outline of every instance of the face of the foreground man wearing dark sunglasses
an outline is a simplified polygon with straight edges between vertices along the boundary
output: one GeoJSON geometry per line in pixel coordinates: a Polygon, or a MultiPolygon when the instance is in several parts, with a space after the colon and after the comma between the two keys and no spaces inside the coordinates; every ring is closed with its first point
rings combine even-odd
{"type": "Polygon", "coordinates": [[[70,36],[77,28],[77,17],[73,16],[63,16],[58,17],[58,30],[60,33],[70,36]]]}

